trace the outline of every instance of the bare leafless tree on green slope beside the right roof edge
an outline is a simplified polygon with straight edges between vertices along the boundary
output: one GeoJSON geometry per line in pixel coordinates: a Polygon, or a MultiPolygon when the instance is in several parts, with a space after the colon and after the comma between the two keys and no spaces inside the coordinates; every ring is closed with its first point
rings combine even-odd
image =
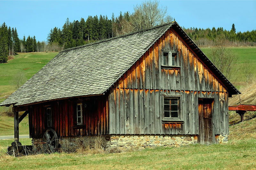
{"type": "Polygon", "coordinates": [[[215,46],[210,48],[209,57],[226,78],[235,82],[234,76],[239,70],[236,66],[238,57],[230,48],[227,48],[227,43],[228,40],[224,35],[219,35],[215,41],[215,46]]]}

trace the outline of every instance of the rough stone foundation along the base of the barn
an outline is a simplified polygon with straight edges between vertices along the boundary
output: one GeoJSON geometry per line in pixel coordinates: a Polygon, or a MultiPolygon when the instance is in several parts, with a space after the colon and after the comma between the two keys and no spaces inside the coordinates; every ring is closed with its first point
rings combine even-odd
{"type": "MultiPolygon", "coordinates": [[[[42,139],[33,139],[33,152],[42,153],[42,139]]],[[[103,135],[85,137],[62,137],[59,139],[59,152],[75,152],[79,148],[120,150],[155,148],[157,146],[180,147],[197,143],[192,135],[103,135]]]]}

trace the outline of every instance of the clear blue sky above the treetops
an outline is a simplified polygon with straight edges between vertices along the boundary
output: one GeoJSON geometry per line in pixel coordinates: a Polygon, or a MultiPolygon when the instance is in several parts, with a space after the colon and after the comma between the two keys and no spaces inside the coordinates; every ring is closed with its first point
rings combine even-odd
{"type": "MultiPolygon", "coordinates": [[[[133,11],[141,1],[1,1],[0,23],[16,27],[19,37],[36,36],[44,41],[51,28],[62,28],[66,18],[85,20],[89,15],[118,16],[120,11],[133,11]]],[[[256,29],[256,1],[160,1],[180,26],[236,31],[256,29]]]]}

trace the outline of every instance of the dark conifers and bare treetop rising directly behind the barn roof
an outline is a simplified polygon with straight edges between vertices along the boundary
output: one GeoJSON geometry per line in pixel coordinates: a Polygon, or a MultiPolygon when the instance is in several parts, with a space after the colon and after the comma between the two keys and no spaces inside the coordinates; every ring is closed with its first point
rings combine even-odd
{"type": "Polygon", "coordinates": [[[159,6],[157,1],[145,1],[134,7],[134,12],[128,11],[115,17],[112,13],[108,16],[88,16],[85,20],[65,21],[62,28],[51,29],[47,41],[50,44],[58,44],[61,47],[72,48],[94,41],[112,38],[125,33],[149,28],[164,22],[170,22],[173,18],[167,15],[167,8],[159,6]]]}

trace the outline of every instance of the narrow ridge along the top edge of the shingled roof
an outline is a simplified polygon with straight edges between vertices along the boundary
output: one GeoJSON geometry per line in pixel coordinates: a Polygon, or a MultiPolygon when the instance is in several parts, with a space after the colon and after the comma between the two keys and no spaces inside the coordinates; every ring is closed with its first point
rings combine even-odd
{"type": "Polygon", "coordinates": [[[118,39],[118,38],[123,38],[123,37],[130,36],[130,35],[133,35],[133,34],[136,34],[136,33],[140,33],[140,32],[149,31],[149,30],[152,30],[152,29],[155,29],[155,28],[159,28],[159,27],[162,27],[162,26],[170,25],[170,24],[172,24],[172,23],[174,23],[174,22],[176,22],[176,21],[172,21],[172,22],[168,22],[168,23],[161,24],[161,25],[158,25],[158,26],[153,26],[153,27],[145,28],[145,29],[142,29],[142,30],[139,30],[139,31],[127,33],[127,34],[124,34],[124,35],[119,35],[119,36],[116,36],[116,37],[112,37],[112,38],[108,38],[108,39],[104,39],[104,40],[100,40],[100,41],[96,41],[96,42],[84,44],[84,45],[81,45],[81,46],[76,46],[76,47],[72,47],[72,48],[67,48],[67,49],[64,49],[64,50],[60,51],[59,53],[71,51],[71,50],[73,50],[73,49],[88,47],[88,46],[91,46],[91,45],[94,45],[94,44],[99,44],[99,43],[102,43],[102,42],[107,42],[107,41],[115,40],[115,39],[118,39]]]}

